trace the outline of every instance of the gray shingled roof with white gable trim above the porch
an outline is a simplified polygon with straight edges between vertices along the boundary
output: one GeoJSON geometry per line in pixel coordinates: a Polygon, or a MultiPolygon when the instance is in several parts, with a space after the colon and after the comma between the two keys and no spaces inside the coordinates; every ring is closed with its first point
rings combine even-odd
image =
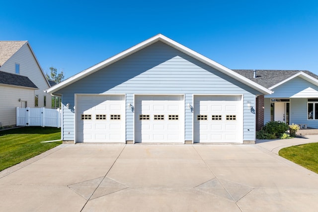
{"type": "Polygon", "coordinates": [[[318,85],[318,75],[310,71],[299,70],[255,70],[256,78],[254,78],[254,70],[233,70],[246,78],[268,88],[273,89],[286,81],[289,81],[296,76],[300,76],[303,79],[310,81],[313,84],[318,85]]]}

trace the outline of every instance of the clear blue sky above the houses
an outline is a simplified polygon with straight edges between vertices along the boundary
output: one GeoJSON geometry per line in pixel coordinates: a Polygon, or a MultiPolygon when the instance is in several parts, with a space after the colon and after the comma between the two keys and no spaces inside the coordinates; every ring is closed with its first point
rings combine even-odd
{"type": "Polygon", "coordinates": [[[66,78],[158,33],[230,69],[318,74],[317,0],[6,0],[0,40],[66,78]]]}

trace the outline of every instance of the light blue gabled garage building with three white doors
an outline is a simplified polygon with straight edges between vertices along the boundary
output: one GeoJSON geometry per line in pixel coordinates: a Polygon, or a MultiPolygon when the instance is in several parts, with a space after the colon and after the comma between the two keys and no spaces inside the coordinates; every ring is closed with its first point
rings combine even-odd
{"type": "Polygon", "coordinates": [[[255,141],[255,99],[271,91],[159,34],[49,88],[62,139],[255,141]]]}

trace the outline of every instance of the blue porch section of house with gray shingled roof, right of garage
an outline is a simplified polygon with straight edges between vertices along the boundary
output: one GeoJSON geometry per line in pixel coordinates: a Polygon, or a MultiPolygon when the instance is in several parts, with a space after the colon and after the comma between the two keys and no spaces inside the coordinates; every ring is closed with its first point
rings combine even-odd
{"type": "Polygon", "coordinates": [[[310,71],[233,70],[273,91],[257,97],[257,130],[269,121],[318,128],[318,76],[310,71]]]}

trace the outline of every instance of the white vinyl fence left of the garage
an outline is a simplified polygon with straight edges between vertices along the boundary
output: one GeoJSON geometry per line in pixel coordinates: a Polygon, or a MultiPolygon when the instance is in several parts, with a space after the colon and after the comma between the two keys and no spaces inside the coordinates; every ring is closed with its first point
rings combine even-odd
{"type": "Polygon", "coordinates": [[[16,126],[61,127],[61,110],[16,108],[16,126]]]}

